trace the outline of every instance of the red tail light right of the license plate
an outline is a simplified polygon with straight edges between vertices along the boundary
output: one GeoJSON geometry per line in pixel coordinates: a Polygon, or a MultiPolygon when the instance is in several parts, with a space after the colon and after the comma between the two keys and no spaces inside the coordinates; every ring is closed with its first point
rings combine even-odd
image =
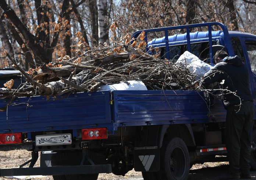
{"type": "Polygon", "coordinates": [[[107,128],[90,128],[82,129],[82,140],[88,139],[106,139],[107,138],[107,128]]]}

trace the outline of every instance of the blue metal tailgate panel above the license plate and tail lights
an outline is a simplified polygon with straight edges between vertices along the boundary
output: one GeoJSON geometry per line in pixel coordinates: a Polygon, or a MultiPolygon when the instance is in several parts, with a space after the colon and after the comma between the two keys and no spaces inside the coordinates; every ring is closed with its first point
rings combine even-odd
{"type": "MultiPolygon", "coordinates": [[[[110,123],[109,101],[109,91],[74,93],[58,100],[41,96],[16,98],[6,112],[0,112],[0,133],[81,129],[110,123]]],[[[0,106],[7,103],[8,100],[1,101],[0,106]]]]}

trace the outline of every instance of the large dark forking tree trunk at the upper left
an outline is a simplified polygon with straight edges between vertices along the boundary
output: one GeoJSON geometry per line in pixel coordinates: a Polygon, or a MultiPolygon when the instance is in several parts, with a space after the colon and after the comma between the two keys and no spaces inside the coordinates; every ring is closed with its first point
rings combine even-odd
{"type": "MultiPolygon", "coordinates": [[[[21,1],[22,0],[20,0],[19,2],[21,1]]],[[[65,4],[66,1],[69,0],[63,0],[63,4],[65,4]]],[[[54,35],[52,37],[50,37],[48,34],[50,32],[50,26],[47,12],[49,12],[50,9],[47,6],[47,4],[43,4],[42,2],[44,1],[35,0],[38,28],[36,34],[34,35],[31,32],[29,32],[29,29],[27,28],[26,24],[24,24],[19,19],[14,9],[12,9],[6,3],[6,0],[0,0],[0,7],[3,13],[5,14],[5,17],[11,21],[13,26],[15,26],[17,31],[22,35],[22,39],[24,39],[25,45],[31,49],[31,52],[33,52],[33,57],[38,65],[42,64],[42,62],[48,63],[52,61],[52,53],[54,51],[54,47],[56,47],[57,45],[59,37],[58,32],[54,32],[54,35]],[[51,41],[50,38],[52,38],[51,41]]],[[[49,2],[46,1],[46,3],[49,2]]],[[[67,9],[63,6],[62,12],[65,12],[66,10],[67,9]]],[[[62,17],[62,14],[60,14],[60,16],[62,17]]],[[[60,22],[61,20],[58,21],[58,23],[60,22]]]]}

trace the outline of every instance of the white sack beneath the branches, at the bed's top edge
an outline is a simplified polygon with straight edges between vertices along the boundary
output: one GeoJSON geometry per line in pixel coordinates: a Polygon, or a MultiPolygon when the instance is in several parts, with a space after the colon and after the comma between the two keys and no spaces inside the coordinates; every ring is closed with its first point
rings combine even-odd
{"type": "Polygon", "coordinates": [[[98,91],[104,90],[147,90],[147,87],[142,81],[136,80],[129,80],[127,81],[129,84],[125,82],[121,82],[118,84],[111,84],[111,85],[103,85],[98,88],[98,91]]]}

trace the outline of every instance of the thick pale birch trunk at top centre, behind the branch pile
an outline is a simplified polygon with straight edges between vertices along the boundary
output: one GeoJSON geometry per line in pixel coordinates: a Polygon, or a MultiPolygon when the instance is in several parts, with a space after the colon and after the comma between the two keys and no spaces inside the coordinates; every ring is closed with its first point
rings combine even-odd
{"type": "Polygon", "coordinates": [[[99,23],[99,41],[109,44],[109,26],[107,14],[107,0],[97,0],[98,5],[98,23],[99,23]]]}

